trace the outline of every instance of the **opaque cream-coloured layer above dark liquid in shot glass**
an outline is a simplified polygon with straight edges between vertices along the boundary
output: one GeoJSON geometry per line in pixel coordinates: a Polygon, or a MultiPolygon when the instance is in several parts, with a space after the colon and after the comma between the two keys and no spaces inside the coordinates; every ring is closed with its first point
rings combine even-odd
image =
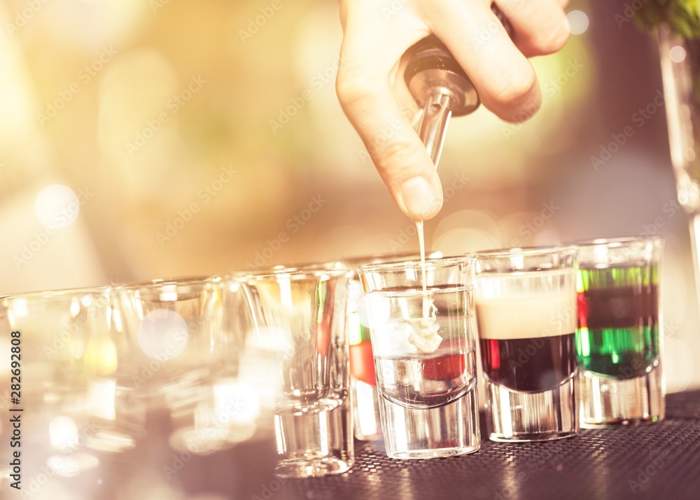
{"type": "Polygon", "coordinates": [[[574,333],[576,294],[572,287],[536,295],[475,300],[479,338],[512,340],[574,333]]]}

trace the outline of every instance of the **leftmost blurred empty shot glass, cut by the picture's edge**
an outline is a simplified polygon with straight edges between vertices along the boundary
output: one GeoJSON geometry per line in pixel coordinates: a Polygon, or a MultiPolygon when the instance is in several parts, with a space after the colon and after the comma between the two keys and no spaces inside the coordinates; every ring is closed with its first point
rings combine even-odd
{"type": "Polygon", "coordinates": [[[129,353],[114,335],[111,312],[108,288],[0,298],[7,368],[0,410],[13,422],[0,425],[0,437],[10,457],[3,465],[15,462],[8,473],[0,466],[0,477],[22,491],[34,494],[39,475],[48,478],[47,491],[69,496],[98,478],[110,489],[105,462],[119,461],[146,435],[144,408],[118,374],[129,353]]]}

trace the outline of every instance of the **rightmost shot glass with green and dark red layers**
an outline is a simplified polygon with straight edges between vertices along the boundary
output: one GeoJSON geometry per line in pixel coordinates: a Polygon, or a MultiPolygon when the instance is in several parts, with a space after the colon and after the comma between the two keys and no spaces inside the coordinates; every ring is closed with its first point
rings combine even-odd
{"type": "Polygon", "coordinates": [[[578,244],[576,352],[582,427],[664,418],[661,237],[578,244]]]}

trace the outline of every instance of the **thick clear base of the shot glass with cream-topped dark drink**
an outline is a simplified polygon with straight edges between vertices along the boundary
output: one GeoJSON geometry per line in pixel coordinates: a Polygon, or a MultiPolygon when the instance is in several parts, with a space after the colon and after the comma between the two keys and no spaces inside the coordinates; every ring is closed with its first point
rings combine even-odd
{"type": "Polygon", "coordinates": [[[551,391],[512,391],[486,378],[492,441],[547,441],[578,433],[574,377],[551,391]]]}

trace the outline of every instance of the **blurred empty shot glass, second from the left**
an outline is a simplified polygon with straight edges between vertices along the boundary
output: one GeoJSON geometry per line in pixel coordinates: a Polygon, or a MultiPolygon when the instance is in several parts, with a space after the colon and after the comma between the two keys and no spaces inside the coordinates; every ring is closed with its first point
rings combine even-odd
{"type": "Polygon", "coordinates": [[[240,377],[244,342],[230,318],[245,303],[227,293],[221,278],[195,277],[121,285],[112,294],[116,329],[132,353],[119,371],[179,454],[227,450],[258,431],[258,391],[240,377]]]}

